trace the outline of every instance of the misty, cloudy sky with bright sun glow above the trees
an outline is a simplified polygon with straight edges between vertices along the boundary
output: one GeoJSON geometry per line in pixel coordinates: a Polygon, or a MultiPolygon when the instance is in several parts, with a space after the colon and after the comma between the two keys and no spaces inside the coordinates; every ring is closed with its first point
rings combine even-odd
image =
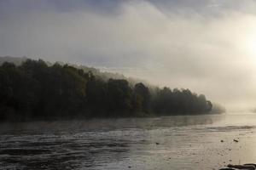
{"type": "Polygon", "coordinates": [[[90,65],[256,108],[255,0],[0,0],[0,55],[90,65]]]}

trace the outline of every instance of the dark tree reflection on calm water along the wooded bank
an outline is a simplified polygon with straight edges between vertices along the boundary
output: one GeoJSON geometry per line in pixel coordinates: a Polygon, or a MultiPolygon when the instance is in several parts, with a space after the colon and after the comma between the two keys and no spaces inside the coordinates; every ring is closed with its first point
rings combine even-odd
{"type": "Polygon", "coordinates": [[[91,119],[89,121],[3,123],[1,133],[78,133],[125,128],[181,127],[218,122],[222,116],[162,116],[154,118],[91,119]]]}

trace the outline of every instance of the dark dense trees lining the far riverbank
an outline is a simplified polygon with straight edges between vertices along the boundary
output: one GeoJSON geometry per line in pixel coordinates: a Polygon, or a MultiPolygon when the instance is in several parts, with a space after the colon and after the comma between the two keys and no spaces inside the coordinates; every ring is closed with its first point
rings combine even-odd
{"type": "Polygon", "coordinates": [[[108,81],[70,65],[27,59],[0,66],[0,120],[201,114],[212,104],[188,89],[108,81]]]}

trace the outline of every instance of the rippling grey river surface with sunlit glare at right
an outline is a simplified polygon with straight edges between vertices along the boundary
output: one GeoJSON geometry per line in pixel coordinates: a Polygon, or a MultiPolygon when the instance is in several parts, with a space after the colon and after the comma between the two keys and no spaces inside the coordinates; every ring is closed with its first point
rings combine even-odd
{"type": "Polygon", "coordinates": [[[6,170],[212,170],[250,162],[256,162],[256,114],[0,125],[6,170]]]}

